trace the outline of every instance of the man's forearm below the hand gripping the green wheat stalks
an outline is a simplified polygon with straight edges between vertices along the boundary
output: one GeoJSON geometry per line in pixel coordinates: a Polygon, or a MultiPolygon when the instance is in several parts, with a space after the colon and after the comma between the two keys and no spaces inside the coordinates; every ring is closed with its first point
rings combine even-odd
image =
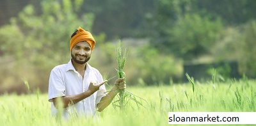
{"type": "Polygon", "coordinates": [[[117,88],[114,86],[111,91],[109,91],[108,95],[101,98],[99,104],[97,104],[98,111],[104,110],[109,104],[112,102],[113,98],[115,98],[118,93],[117,88]]]}

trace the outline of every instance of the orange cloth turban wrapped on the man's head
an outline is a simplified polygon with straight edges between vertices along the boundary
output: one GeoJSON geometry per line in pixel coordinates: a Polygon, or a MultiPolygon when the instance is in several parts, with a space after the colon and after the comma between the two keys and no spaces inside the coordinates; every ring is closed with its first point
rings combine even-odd
{"type": "Polygon", "coordinates": [[[70,39],[70,51],[72,51],[73,47],[77,43],[82,42],[82,41],[88,42],[91,45],[91,49],[93,50],[96,42],[95,42],[92,34],[89,31],[85,31],[81,27],[79,27],[77,30],[78,31],[77,31],[76,35],[74,35],[70,39]]]}

